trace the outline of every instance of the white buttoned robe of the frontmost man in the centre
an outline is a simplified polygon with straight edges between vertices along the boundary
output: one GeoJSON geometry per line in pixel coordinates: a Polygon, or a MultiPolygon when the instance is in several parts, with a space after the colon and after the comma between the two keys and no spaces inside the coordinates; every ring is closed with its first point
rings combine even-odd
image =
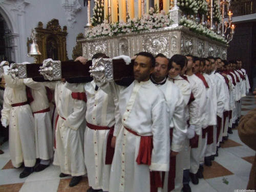
{"type": "Polygon", "coordinates": [[[110,82],[101,88],[118,98],[118,121],[122,122],[120,129],[117,129],[109,191],[148,192],[150,170],[169,169],[169,114],[165,97],[151,80],[140,83],[135,80],[129,87],[110,82]],[[140,136],[153,136],[150,166],[137,164],[141,137],[130,133],[124,126],[140,136]]]}

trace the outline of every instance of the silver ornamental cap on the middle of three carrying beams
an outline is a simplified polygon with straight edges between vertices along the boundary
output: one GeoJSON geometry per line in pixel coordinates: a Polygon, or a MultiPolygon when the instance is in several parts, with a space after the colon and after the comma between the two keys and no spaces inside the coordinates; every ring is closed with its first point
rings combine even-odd
{"type": "Polygon", "coordinates": [[[45,79],[50,81],[61,79],[61,61],[46,59],[42,61],[42,67],[39,70],[40,74],[45,79]]]}

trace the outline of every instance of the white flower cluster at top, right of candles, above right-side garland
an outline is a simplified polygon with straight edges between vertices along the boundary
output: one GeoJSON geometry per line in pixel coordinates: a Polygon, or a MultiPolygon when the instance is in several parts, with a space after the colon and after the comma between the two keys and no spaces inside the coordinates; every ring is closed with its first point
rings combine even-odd
{"type": "Polygon", "coordinates": [[[178,0],[177,6],[187,15],[194,15],[198,13],[198,4],[194,0],[178,0]]]}

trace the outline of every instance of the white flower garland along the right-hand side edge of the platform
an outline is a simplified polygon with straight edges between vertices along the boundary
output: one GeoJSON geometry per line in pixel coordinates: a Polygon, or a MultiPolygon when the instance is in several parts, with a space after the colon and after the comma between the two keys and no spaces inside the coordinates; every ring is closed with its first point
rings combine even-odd
{"type": "Polygon", "coordinates": [[[199,25],[196,24],[196,22],[194,22],[194,20],[187,19],[185,16],[182,16],[182,18],[180,19],[179,25],[188,27],[190,31],[193,31],[199,35],[203,35],[203,36],[211,38],[212,40],[216,40],[216,41],[227,44],[227,40],[224,37],[222,37],[221,35],[218,35],[217,33],[215,33],[212,30],[207,29],[205,26],[203,26],[201,24],[199,24],[199,25]]]}

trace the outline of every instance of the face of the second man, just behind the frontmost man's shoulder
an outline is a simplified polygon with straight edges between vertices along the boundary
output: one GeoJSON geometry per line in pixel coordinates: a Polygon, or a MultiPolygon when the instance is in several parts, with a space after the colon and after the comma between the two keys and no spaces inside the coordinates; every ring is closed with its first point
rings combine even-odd
{"type": "Polygon", "coordinates": [[[156,67],[153,72],[153,78],[156,82],[161,82],[168,73],[168,59],[165,57],[156,58],[156,67]]]}

